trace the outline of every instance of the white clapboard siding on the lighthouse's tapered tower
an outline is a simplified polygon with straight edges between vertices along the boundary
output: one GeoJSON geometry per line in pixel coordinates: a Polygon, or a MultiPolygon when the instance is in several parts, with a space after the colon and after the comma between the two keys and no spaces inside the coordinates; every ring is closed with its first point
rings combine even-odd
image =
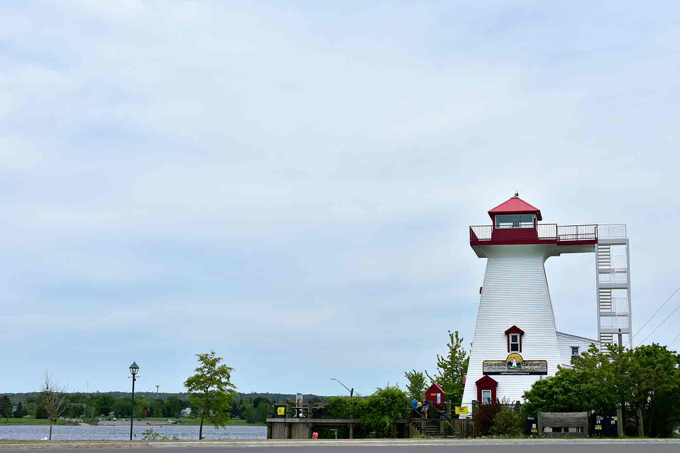
{"type": "MultiPolygon", "coordinates": [[[[468,406],[477,399],[475,381],[483,376],[482,362],[507,358],[505,331],[513,325],[524,331],[524,360],[547,360],[548,376],[554,375],[562,363],[543,267],[549,256],[547,246],[486,246],[485,254],[486,273],[462,399],[462,404],[468,406]]],[[[522,394],[544,376],[490,377],[498,382],[498,399],[523,401],[522,394]]]]}

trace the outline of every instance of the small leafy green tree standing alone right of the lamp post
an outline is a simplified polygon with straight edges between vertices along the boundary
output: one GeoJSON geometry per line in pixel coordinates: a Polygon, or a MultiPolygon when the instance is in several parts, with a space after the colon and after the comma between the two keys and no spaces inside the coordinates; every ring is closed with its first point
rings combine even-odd
{"type": "Polygon", "coordinates": [[[196,402],[199,407],[201,417],[199,440],[201,440],[205,418],[215,426],[225,426],[229,418],[231,401],[236,395],[236,386],[231,382],[233,368],[220,365],[222,357],[218,357],[215,351],[196,356],[199,367],[194,370],[196,374],[184,382],[184,387],[189,392],[190,400],[196,402]]]}

